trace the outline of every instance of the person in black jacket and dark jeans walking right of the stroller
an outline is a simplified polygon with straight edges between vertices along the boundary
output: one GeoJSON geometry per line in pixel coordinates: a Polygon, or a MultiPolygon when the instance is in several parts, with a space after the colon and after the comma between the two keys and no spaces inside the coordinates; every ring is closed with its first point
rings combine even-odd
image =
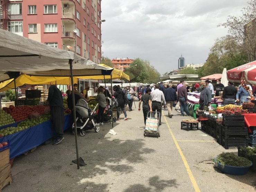
{"type": "Polygon", "coordinates": [[[120,121],[120,109],[125,114],[124,120],[127,120],[127,113],[125,111],[125,94],[122,92],[116,85],[113,86],[113,89],[115,90],[114,97],[117,99],[118,106],[117,106],[117,121],[120,121]]]}

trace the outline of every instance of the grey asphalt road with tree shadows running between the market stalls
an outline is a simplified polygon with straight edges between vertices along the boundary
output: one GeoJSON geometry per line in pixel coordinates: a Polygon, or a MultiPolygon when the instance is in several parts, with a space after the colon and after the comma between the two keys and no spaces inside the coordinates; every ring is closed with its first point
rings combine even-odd
{"type": "Polygon", "coordinates": [[[144,137],[143,112],[133,109],[127,111],[128,120],[121,115],[114,124],[117,135],[109,134],[112,126],[104,123],[99,133],[89,130],[78,136],[79,156],[86,166],[77,170],[72,163],[75,137],[65,132],[59,145],[42,145],[16,157],[13,182],[3,192],[255,191],[255,173],[232,176],[213,168],[211,158],[237,149],[224,149],[200,128],[181,130],[184,117],[175,110],[171,119],[162,111],[161,137],[144,137]]]}

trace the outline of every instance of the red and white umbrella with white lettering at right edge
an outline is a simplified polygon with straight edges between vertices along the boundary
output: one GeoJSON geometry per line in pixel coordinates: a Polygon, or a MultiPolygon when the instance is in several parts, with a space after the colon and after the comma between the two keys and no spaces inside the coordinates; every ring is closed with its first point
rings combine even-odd
{"type": "Polygon", "coordinates": [[[250,84],[256,84],[256,61],[228,70],[227,78],[234,83],[240,83],[241,79],[245,79],[250,84]]]}

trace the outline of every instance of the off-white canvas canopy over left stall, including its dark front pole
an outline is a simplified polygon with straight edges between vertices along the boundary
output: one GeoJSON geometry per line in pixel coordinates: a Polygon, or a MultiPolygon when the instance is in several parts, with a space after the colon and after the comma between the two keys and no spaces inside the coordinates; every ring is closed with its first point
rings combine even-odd
{"type": "MultiPolygon", "coordinates": [[[[92,75],[110,75],[113,70],[85,60],[73,52],[57,49],[6,30],[0,29],[0,39],[0,81],[11,79],[11,75],[14,75],[15,79],[15,76],[19,73],[35,76],[63,75],[71,77],[72,90],[74,90],[73,75],[85,76],[88,73],[92,75]]],[[[74,94],[72,96],[73,106],[75,106],[74,94]]],[[[76,159],[77,169],[79,169],[75,119],[74,112],[76,159]]]]}

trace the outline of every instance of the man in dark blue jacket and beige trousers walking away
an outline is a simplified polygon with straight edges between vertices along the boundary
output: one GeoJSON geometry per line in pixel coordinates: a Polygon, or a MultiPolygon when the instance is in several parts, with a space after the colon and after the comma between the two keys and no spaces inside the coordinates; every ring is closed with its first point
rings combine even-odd
{"type": "Polygon", "coordinates": [[[173,102],[177,103],[177,94],[175,89],[172,88],[172,83],[169,83],[169,88],[164,91],[164,98],[166,101],[166,108],[168,110],[168,117],[172,118],[172,106],[173,102]]]}

